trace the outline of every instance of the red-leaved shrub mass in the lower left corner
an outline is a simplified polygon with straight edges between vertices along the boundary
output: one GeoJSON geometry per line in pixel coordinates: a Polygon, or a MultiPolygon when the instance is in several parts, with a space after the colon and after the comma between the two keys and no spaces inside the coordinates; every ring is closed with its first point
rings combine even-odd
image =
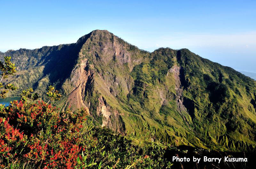
{"type": "Polygon", "coordinates": [[[45,102],[13,101],[0,112],[0,163],[19,158],[38,167],[73,168],[83,149],[79,135],[86,115],[84,109],[60,114],[45,102]]]}

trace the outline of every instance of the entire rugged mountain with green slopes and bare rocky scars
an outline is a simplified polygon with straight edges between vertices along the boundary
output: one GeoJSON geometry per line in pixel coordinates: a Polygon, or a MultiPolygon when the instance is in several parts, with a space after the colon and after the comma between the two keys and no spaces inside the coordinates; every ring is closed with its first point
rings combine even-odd
{"type": "MultiPolygon", "coordinates": [[[[254,151],[256,82],[188,49],[140,50],[106,30],[73,44],[0,53],[19,70],[7,81],[33,87],[46,100],[47,85],[63,94],[60,110],[84,107],[95,124],[125,135],[145,121],[174,146],[254,151]]],[[[155,139],[155,138],[153,138],[155,139]]]]}

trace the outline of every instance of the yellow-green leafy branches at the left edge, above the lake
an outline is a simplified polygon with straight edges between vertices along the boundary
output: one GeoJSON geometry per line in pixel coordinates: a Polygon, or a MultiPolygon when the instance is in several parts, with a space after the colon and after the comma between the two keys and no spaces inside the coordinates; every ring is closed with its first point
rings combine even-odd
{"type": "Polygon", "coordinates": [[[9,75],[12,75],[16,73],[16,67],[15,64],[11,62],[11,57],[4,57],[4,62],[0,61],[0,74],[1,74],[1,80],[0,80],[0,97],[5,98],[6,93],[9,90],[16,90],[17,87],[13,86],[13,84],[5,83],[3,84],[2,81],[6,78],[8,78],[9,75]]]}

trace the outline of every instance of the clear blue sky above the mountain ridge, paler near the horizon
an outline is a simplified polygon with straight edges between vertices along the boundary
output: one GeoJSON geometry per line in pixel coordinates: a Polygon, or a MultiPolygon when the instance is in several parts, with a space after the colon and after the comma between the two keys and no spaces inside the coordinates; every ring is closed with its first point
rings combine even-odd
{"type": "Polygon", "coordinates": [[[256,73],[256,1],[0,1],[0,51],[73,43],[107,29],[141,49],[188,48],[256,73]]]}

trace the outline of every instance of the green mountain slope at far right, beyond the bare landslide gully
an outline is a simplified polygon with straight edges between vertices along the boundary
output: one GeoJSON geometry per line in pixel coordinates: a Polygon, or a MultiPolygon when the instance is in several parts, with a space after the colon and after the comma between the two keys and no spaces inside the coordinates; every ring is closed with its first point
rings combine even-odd
{"type": "Polygon", "coordinates": [[[255,81],[187,49],[178,58],[188,84],[183,95],[195,105],[197,134],[221,146],[255,144],[255,81]]]}

